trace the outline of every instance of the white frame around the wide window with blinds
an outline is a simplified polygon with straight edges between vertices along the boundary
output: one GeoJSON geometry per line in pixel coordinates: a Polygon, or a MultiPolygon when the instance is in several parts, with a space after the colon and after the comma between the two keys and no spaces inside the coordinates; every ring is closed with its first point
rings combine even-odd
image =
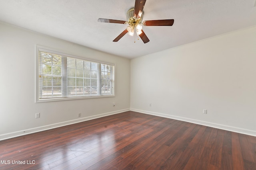
{"type": "MultiPolygon", "coordinates": [[[[63,64],[62,64],[63,65],[63,64]]],[[[114,63],[108,63],[105,61],[98,61],[98,60],[94,60],[94,59],[89,59],[89,58],[85,58],[85,57],[81,57],[78,55],[71,55],[67,52],[61,51],[61,50],[56,50],[56,49],[52,49],[52,48],[48,48],[48,47],[44,47],[44,46],[40,46],[40,45],[36,45],[36,103],[37,102],[53,102],[53,101],[62,101],[62,100],[78,100],[78,99],[88,99],[88,98],[106,98],[106,97],[115,97],[115,77],[116,77],[116,65],[114,63]],[[73,59],[78,59],[78,60],[83,60],[83,61],[88,61],[88,62],[94,62],[94,63],[98,63],[99,65],[101,64],[107,64],[107,65],[111,65],[114,66],[114,74],[112,74],[113,78],[113,82],[112,82],[112,87],[113,87],[113,91],[112,94],[99,94],[101,92],[99,92],[101,89],[98,88],[98,94],[97,95],[92,95],[92,96],[72,96],[72,97],[58,97],[58,98],[40,98],[40,71],[39,71],[39,51],[43,51],[46,53],[51,53],[54,55],[60,55],[60,56],[64,56],[64,57],[71,57],[73,59]]],[[[113,71],[113,70],[112,70],[113,71]]],[[[101,72],[100,70],[100,66],[98,68],[98,72],[101,72]]],[[[63,74],[63,73],[62,73],[63,74]]],[[[65,73],[64,73],[65,74],[65,73]]],[[[100,78],[100,73],[98,73],[98,87],[101,88],[101,78],[100,78]]],[[[66,77],[65,77],[66,78],[66,77]]],[[[62,92],[63,93],[63,92],[62,92]]]]}

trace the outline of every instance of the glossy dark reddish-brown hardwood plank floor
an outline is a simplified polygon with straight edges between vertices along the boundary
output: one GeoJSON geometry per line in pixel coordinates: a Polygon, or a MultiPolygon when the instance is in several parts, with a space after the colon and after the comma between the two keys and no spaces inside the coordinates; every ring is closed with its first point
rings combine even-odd
{"type": "Polygon", "coordinates": [[[256,170],[256,137],[127,111],[0,141],[0,160],[1,170],[256,170]]]}

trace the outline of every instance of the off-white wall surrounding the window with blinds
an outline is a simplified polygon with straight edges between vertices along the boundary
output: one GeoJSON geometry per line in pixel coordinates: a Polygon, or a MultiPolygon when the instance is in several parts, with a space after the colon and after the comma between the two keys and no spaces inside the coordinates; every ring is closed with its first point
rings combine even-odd
{"type": "Polygon", "coordinates": [[[130,59],[6,23],[0,23],[0,80],[0,140],[130,109],[130,59]],[[116,97],[35,103],[36,45],[115,63],[116,97]]]}

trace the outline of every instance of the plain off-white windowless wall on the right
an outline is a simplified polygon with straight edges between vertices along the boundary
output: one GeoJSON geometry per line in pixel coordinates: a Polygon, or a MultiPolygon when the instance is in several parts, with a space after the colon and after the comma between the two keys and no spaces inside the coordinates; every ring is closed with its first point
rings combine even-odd
{"type": "Polygon", "coordinates": [[[132,59],[130,70],[131,110],[256,136],[256,26],[132,59]]]}

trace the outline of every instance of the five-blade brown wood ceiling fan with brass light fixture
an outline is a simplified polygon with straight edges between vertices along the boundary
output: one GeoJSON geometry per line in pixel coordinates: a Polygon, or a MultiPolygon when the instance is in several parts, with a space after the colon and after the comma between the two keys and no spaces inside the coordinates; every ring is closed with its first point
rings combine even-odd
{"type": "Polygon", "coordinates": [[[144,43],[148,43],[149,39],[142,30],[142,25],[144,26],[172,26],[174,23],[173,19],[170,20],[149,20],[149,21],[143,21],[143,8],[146,3],[146,0],[135,0],[135,5],[134,8],[131,8],[128,10],[126,14],[126,19],[127,21],[122,21],[122,20],[111,20],[111,19],[105,19],[105,18],[99,18],[98,22],[106,22],[106,23],[122,23],[122,24],[129,24],[128,27],[120,33],[113,41],[117,42],[120,40],[126,33],[129,35],[133,36],[134,32],[140,38],[144,43]]]}

